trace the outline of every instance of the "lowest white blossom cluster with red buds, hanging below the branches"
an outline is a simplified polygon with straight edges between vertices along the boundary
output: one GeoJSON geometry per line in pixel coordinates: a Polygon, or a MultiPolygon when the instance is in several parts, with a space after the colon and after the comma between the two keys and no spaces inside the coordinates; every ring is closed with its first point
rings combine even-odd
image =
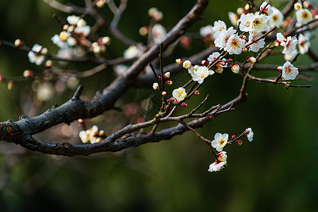
{"type": "MultiPolygon", "coordinates": [[[[246,135],[247,139],[249,141],[252,141],[253,136],[254,136],[254,132],[249,127],[247,129],[245,129],[245,131],[240,136],[242,136],[242,135],[246,135]]],[[[213,148],[216,148],[216,151],[218,151],[219,153],[215,154],[216,161],[214,161],[214,163],[211,163],[210,166],[208,167],[209,172],[218,172],[218,171],[222,170],[223,167],[225,167],[225,165],[227,164],[228,155],[225,151],[223,151],[223,148],[228,143],[232,143],[233,141],[238,146],[242,145],[242,141],[238,140],[238,137],[236,137],[235,135],[232,136],[232,141],[228,141],[228,134],[217,133],[214,135],[214,140],[211,141],[211,146],[213,148]]]]}

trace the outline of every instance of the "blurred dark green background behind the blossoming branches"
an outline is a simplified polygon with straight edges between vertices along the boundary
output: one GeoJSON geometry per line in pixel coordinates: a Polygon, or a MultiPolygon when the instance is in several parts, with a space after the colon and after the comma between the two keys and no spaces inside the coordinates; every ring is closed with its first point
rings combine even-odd
{"type": "MultiPolygon", "coordinates": [[[[134,40],[145,42],[138,30],[149,23],[148,8],[155,6],[163,11],[161,23],[171,29],[194,2],[128,1],[119,29],[134,40]]],[[[77,4],[83,5],[83,1],[77,4]]],[[[213,24],[219,19],[230,25],[228,11],[235,12],[238,6],[244,5],[244,1],[211,1],[204,13],[206,20],[196,23],[189,32],[198,32],[201,26],[213,24]]],[[[111,17],[107,6],[102,11],[105,16],[111,17]]],[[[52,18],[53,13],[62,18],[67,16],[42,1],[1,0],[0,39],[14,41],[20,38],[30,47],[39,43],[49,52],[56,53],[57,47],[50,39],[60,30],[57,21],[52,18]]],[[[89,17],[86,20],[93,23],[89,17]]],[[[317,30],[313,34],[317,36],[317,30]]],[[[101,30],[102,35],[109,33],[101,30]]],[[[312,40],[312,49],[318,54],[317,43],[317,38],[312,40]]],[[[119,57],[124,49],[126,46],[113,40],[107,52],[119,57]]],[[[202,42],[194,40],[192,49],[185,51],[177,47],[172,60],[164,63],[170,64],[178,57],[189,57],[201,49],[204,49],[202,42]]],[[[266,62],[282,65],[283,55],[271,57],[266,62]]],[[[300,55],[295,66],[311,62],[300,55]]],[[[66,67],[86,70],[92,64],[67,64],[66,67]]],[[[20,76],[25,69],[36,73],[42,71],[28,62],[25,52],[0,47],[1,75],[7,78],[20,76]]],[[[205,108],[235,98],[242,78],[230,72],[225,70],[223,74],[209,78],[201,88],[201,95],[189,102],[188,108],[179,109],[178,113],[191,110],[207,93],[211,98],[205,108]]],[[[278,73],[264,71],[255,74],[277,76],[278,73]]],[[[238,105],[235,112],[222,114],[198,130],[208,139],[213,139],[217,132],[231,136],[240,134],[247,127],[254,130],[252,143],[244,139],[240,147],[225,148],[228,166],[216,173],[207,171],[208,165],[213,163],[213,155],[206,144],[190,132],[171,141],[148,143],[119,153],[73,158],[32,153],[2,141],[0,211],[318,211],[318,76],[317,70],[306,74],[314,77],[314,81],[300,79],[295,84],[312,84],[310,89],[285,90],[283,86],[249,83],[247,102],[238,105]]],[[[112,78],[114,73],[109,69],[81,79],[79,83],[86,86],[83,95],[93,97],[112,78]]],[[[33,100],[35,94],[31,84],[32,81],[16,83],[12,90],[8,90],[5,83],[0,84],[1,122],[7,119],[16,121],[20,114],[28,114],[30,108],[39,114],[55,103],[60,105],[65,102],[74,91],[74,88],[66,88],[56,93],[53,100],[38,103],[33,100]]],[[[141,101],[152,93],[152,90],[131,89],[117,102],[117,106],[136,102],[130,106],[139,107],[141,101]]],[[[134,121],[129,113],[106,112],[88,123],[108,130],[114,123],[134,121]]],[[[50,142],[80,143],[77,136],[79,129],[76,123],[56,126],[38,138],[50,142]],[[72,134],[60,133],[69,129],[73,129],[72,134]]]]}

